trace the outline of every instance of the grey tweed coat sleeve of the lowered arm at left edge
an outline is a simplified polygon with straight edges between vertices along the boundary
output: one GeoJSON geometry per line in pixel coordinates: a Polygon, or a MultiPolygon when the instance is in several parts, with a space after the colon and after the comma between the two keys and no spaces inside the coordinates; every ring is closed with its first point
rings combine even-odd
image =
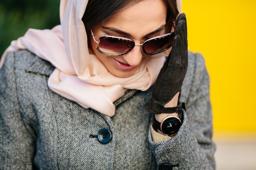
{"type": "Polygon", "coordinates": [[[0,68],[0,169],[32,169],[34,137],[20,113],[15,57],[9,53],[0,68]]]}

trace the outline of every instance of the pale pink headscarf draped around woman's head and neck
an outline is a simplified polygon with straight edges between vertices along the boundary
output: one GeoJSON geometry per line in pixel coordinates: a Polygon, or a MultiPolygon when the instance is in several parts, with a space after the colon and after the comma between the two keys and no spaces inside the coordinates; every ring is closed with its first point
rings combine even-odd
{"type": "Polygon", "coordinates": [[[49,77],[49,88],[84,108],[93,108],[113,116],[113,102],[127,89],[146,91],[152,86],[163,66],[165,57],[151,57],[131,77],[115,77],[98,60],[89,54],[85,26],[81,20],[88,0],[61,0],[61,25],[51,30],[29,29],[12,41],[2,55],[10,51],[28,49],[38,57],[51,62],[55,70],[49,77]]]}

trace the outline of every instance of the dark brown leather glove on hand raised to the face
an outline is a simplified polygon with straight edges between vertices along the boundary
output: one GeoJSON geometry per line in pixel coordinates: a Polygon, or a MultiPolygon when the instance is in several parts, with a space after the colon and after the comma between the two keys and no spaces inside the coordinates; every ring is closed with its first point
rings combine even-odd
{"type": "Polygon", "coordinates": [[[145,104],[145,108],[153,114],[177,111],[177,108],[164,108],[164,105],[181,91],[188,68],[187,26],[184,13],[180,14],[176,20],[174,35],[171,53],[156,79],[152,98],[145,104]]]}

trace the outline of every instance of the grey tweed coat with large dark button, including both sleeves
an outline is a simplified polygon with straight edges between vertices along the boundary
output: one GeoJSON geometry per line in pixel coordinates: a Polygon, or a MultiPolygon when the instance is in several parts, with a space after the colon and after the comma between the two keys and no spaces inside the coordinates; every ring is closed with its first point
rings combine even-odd
{"type": "MultiPolygon", "coordinates": [[[[177,135],[153,142],[148,91],[129,90],[113,117],[51,91],[54,67],[26,50],[9,53],[0,69],[0,170],[212,170],[215,169],[209,76],[200,54],[189,53],[177,135]],[[112,133],[107,144],[99,130],[112,133]],[[173,167],[173,168],[172,168],[173,167]]],[[[99,103],[100,104],[100,103],[99,103]]]]}

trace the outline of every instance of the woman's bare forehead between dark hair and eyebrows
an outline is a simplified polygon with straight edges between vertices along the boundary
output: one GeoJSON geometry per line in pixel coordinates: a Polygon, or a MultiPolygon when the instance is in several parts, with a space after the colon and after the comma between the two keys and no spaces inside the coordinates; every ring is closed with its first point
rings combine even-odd
{"type": "Polygon", "coordinates": [[[165,24],[166,13],[162,0],[142,0],[120,9],[102,26],[116,28],[132,36],[143,36],[165,24]]]}

